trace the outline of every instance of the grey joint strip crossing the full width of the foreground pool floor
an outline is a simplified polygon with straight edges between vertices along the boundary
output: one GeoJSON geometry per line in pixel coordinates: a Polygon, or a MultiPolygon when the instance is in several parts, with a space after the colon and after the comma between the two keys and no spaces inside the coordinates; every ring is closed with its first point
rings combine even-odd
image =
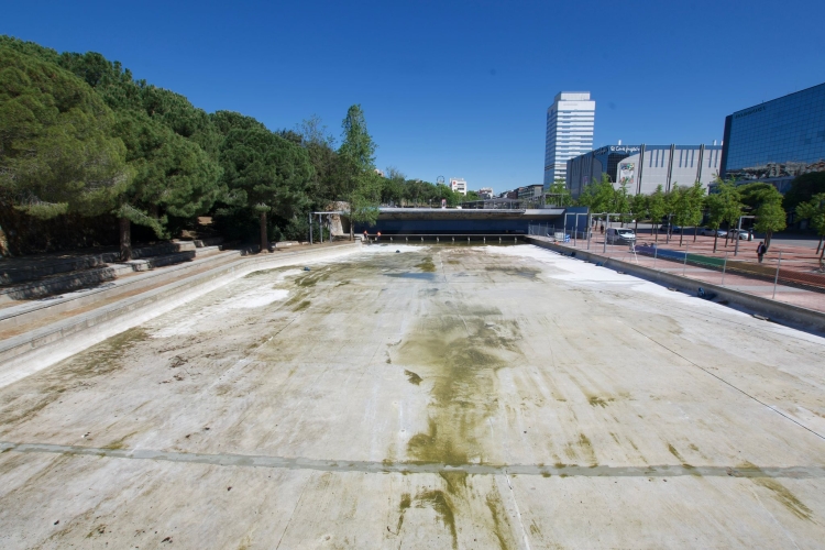
{"type": "Polygon", "coordinates": [[[790,477],[798,480],[825,479],[825,466],[692,466],[690,464],[661,464],[646,466],[583,466],[578,464],[439,464],[422,462],[374,462],[346,460],[319,460],[268,457],[262,454],[194,453],[155,451],[150,449],[106,449],[100,447],[58,446],[48,443],[12,443],[0,441],[0,454],[8,452],[33,454],[62,454],[66,457],[102,457],[109,459],[146,460],[218,466],[272,468],[280,470],[315,470],[320,472],[363,472],[441,474],[462,472],[471,475],[541,475],[561,477],[790,477]]]}

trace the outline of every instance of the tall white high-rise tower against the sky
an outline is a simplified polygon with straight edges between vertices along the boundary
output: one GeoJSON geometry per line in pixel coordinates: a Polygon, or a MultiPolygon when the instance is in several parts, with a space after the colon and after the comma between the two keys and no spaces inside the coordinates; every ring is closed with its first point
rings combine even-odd
{"type": "Polygon", "coordinates": [[[590,91],[561,91],[547,110],[544,189],[565,179],[568,161],[593,150],[596,102],[590,91]]]}

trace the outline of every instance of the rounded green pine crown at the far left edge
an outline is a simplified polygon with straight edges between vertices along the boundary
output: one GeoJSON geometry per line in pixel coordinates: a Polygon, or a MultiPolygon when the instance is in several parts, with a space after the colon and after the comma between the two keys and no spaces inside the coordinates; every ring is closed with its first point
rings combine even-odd
{"type": "Polygon", "coordinates": [[[0,44],[0,194],[38,218],[95,216],[130,179],[114,116],[82,80],[0,44]]]}

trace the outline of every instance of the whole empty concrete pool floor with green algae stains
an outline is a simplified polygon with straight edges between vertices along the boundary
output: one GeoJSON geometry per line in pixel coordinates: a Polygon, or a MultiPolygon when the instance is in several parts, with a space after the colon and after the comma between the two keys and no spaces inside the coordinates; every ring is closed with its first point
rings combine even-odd
{"type": "Polygon", "coordinates": [[[531,245],[369,246],[0,388],[0,547],[821,548],[824,364],[531,245]]]}

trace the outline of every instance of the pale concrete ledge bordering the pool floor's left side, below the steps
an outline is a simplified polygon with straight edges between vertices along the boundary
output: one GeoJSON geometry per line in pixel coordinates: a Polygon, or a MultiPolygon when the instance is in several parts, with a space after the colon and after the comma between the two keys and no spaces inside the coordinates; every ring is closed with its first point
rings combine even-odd
{"type": "Polygon", "coordinates": [[[326,260],[360,250],[361,243],[246,256],[230,265],[124,298],[116,304],[36,329],[0,343],[0,387],[74,355],[119,332],[190,301],[254,271],[326,260]],[[89,330],[89,329],[96,330],[89,330]]]}

